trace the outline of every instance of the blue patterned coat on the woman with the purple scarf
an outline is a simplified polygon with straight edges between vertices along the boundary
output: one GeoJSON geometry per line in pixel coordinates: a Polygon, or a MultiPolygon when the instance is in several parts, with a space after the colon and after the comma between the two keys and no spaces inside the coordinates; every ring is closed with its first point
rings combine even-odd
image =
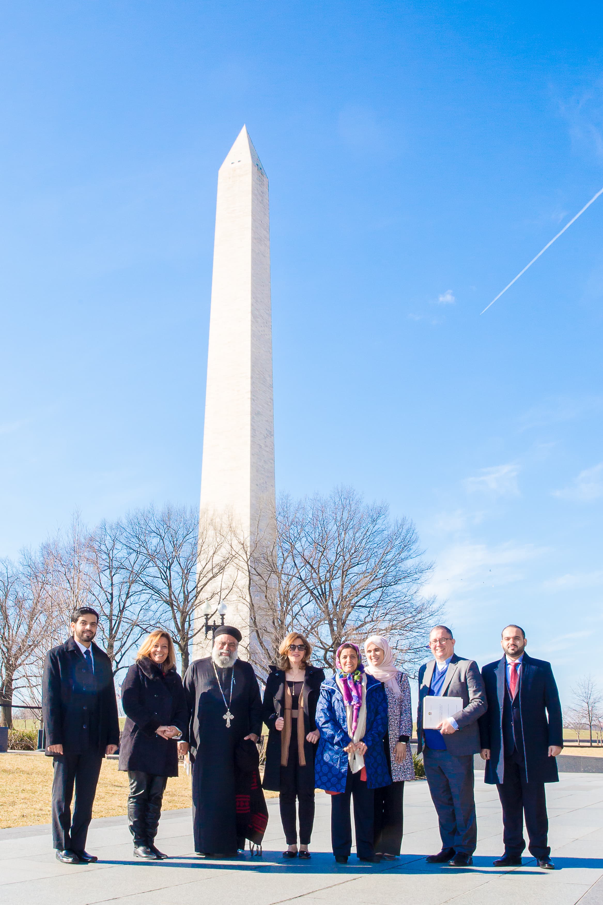
{"type": "MultiPolygon", "coordinates": [[[[344,699],[334,679],[323,682],[316,706],[316,726],[320,741],[316,751],[316,788],[327,792],[344,792],[348,757],[344,748],[351,739],[347,734],[344,699]]],[[[366,676],[366,730],[363,742],[367,786],[371,789],[390,786],[390,771],[385,760],[383,737],[387,731],[387,698],[380,681],[366,676]]]]}

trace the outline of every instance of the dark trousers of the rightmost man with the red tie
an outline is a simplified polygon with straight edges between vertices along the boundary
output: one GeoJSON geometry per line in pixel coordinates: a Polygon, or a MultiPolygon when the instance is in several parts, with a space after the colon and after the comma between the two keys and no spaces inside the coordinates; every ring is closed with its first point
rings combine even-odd
{"type": "Polygon", "coordinates": [[[497,783],[496,788],[503,805],[504,852],[513,855],[523,852],[525,814],[530,853],[534,858],[548,858],[551,847],[547,844],[549,818],[546,813],[544,783],[527,782],[523,758],[516,750],[512,755],[504,757],[503,779],[503,783],[497,783]]]}

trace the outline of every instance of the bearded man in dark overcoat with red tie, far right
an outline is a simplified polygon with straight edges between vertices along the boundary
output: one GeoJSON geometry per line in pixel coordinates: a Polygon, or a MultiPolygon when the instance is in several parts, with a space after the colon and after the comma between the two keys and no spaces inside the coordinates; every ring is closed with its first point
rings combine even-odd
{"type": "Polygon", "coordinates": [[[555,760],[563,748],[559,692],[551,663],[525,653],[523,628],[507,625],[501,643],[503,658],[482,670],[488,710],[479,720],[485,782],[496,785],[503,805],[504,855],[494,864],[521,865],[525,814],[530,853],[540,867],[553,870],[544,783],[559,782],[555,760]]]}

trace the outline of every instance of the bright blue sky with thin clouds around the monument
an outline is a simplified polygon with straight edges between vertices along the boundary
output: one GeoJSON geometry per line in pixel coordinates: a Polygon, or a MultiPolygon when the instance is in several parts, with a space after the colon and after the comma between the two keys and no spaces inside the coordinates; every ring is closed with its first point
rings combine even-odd
{"type": "Polygon", "coordinates": [[[269,175],[278,488],[415,520],[457,652],[603,682],[599,5],[0,5],[0,553],[198,500],[217,170],[269,175]]]}

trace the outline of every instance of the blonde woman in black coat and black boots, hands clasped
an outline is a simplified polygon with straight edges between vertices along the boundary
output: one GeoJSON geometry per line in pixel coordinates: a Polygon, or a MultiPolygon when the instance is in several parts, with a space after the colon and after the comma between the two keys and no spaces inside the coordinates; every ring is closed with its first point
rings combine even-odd
{"type": "Polygon", "coordinates": [[[175,739],[185,740],[188,708],[182,679],[175,670],[174,643],[157,629],[143,642],[121,686],[126,725],[119,748],[119,769],[127,770],[127,816],[137,858],[158,861],[155,848],[168,776],[178,776],[175,739]]]}

